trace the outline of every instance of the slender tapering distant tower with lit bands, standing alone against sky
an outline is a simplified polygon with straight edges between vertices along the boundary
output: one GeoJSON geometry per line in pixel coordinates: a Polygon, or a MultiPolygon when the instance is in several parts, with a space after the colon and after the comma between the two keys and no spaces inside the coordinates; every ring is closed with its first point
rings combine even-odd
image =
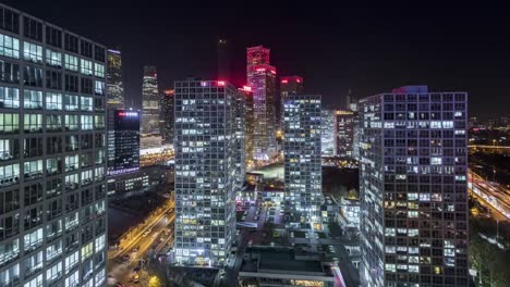
{"type": "Polygon", "coordinates": [[[158,77],[155,66],[144,66],[142,84],[141,147],[161,145],[158,77]]]}

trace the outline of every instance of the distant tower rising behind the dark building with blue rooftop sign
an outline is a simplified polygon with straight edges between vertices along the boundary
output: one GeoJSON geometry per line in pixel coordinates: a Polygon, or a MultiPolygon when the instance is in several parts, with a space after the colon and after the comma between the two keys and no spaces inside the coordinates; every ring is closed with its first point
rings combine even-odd
{"type": "Polygon", "coordinates": [[[122,55],[118,50],[107,50],[107,108],[124,109],[124,86],[122,80],[122,55]]]}

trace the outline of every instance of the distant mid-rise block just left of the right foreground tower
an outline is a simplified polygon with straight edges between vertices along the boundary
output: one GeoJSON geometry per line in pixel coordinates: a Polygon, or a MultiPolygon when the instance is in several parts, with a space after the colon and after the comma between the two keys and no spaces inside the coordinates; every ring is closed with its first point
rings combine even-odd
{"type": "Polygon", "coordinates": [[[351,111],[335,111],[335,129],[337,155],[352,158],[354,149],[354,113],[351,111]]]}

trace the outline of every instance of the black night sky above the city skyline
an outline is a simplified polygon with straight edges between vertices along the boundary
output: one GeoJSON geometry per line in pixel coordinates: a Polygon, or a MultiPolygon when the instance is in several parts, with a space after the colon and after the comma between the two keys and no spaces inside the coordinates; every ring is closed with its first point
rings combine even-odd
{"type": "MultiPolygon", "coordinates": [[[[230,43],[236,84],[245,48],[271,49],[278,75],[301,75],[327,105],[402,85],[470,93],[471,115],[509,115],[509,10],[477,5],[303,7],[301,1],[3,0],[123,53],[126,104],[141,104],[142,67],[158,68],[161,88],[189,76],[216,77],[219,38],[230,43]],[[184,2],[184,1],[182,1],[184,2]],[[251,7],[241,7],[252,3],[251,7]]],[[[413,2],[413,1],[411,1],[413,2]]],[[[409,3],[411,3],[409,2],[409,3]]],[[[308,5],[315,1],[305,1],[308,5]]],[[[318,3],[318,1],[317,1],[318,3]]],[[[428,2],[427,2],[428,3],[428,2]]],[[[488,2],[486,2],[488,4],[488,2]]]]}

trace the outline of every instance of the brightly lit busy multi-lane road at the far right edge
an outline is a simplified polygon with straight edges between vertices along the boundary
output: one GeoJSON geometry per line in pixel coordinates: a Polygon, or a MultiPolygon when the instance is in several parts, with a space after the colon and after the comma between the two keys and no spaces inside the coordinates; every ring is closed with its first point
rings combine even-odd
{"type": "Polygon", "coordinates": [[[469,172],[467,179],[472,195],[493,210],[493,216],[497,220],[510,221],[510,190],[498,183],[485,180],[472,171],[469,172]]]}

